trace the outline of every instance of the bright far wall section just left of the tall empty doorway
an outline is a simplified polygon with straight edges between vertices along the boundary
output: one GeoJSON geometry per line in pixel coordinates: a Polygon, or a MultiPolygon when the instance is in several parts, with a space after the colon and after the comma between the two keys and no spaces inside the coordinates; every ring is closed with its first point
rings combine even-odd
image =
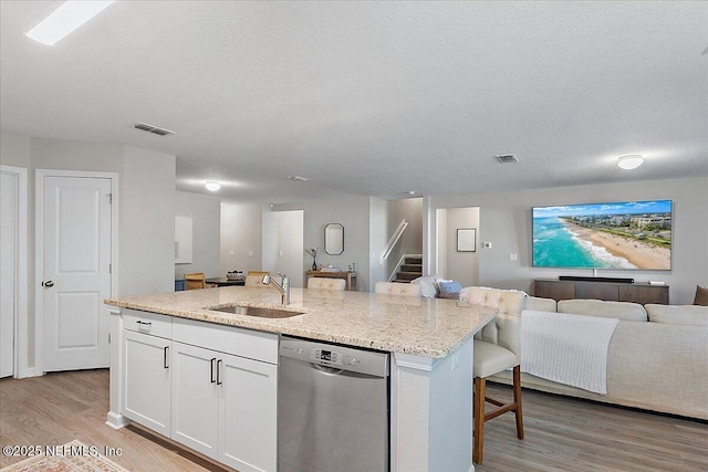
{"type": "Polygon", "coordinates": [[[221,273],[263,269],[263,206],[221,202],[221,273]],[[249,255],[249,253],[251,255],[249,255]],[[232,254],[232,255],[231,255],[232,254]]]}

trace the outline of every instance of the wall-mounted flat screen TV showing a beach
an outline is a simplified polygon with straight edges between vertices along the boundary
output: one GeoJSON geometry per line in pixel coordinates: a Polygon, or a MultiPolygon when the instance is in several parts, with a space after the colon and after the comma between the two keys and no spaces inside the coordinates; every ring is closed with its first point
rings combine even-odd
{"type": "Polygon", "coordinates": [[[533,266],[671,269],[671,200],[534,207],[533,266]]]}

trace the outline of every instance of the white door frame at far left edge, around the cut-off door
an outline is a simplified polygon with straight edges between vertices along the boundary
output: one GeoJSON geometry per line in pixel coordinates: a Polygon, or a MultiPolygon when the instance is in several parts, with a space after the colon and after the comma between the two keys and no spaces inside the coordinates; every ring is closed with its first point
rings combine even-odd
{"type": "Polygon", "coordinates": [[[17,176],[18,182],[18,195],[17,195],[17,216],[18,216],[18,232],[17,232],[17,244],[14,248],[17,255],[17,266],[15,266],[15,311],[13,314],[14,323],[13,323],[13,333],[12,337],[14,339],[13,343],[13,366],[12,366],[12,377],[14,378],[24,378],[31,377],[33,375],[32,369],[28,365],[28,303],[29,303],[29,291],[28,291],[28,266],[29,266],[29,252],[28,252],[28,241],[27,241],[27,228],[29,220],[29,207],[28,207],[28,196],[29,196],[29,187],[28,187],[28,169],[25,167],[14,167],[14,166],[6,166],[0,165],[0,171],[4,174],[11,174],[17,176]]]}

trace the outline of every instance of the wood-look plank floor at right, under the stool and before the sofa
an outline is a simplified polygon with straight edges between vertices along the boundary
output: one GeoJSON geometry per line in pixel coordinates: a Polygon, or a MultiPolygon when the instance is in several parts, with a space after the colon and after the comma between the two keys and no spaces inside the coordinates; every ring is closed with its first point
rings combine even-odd
{"type": "MultiPolygon", "coordinates": [[[[488,384],[509,401],[511,387],[488,384]]],[[[524,389],[525,439],[512,413],[485,426],[477,472],[708,471],[708,423],[524,389]]]]}

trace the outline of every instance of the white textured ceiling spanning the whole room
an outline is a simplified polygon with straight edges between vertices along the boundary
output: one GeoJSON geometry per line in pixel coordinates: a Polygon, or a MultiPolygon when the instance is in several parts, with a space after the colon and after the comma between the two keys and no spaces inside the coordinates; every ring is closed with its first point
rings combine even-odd
{"type": "Polygon", "coordinates": [[[118,0],[49,48],[22,31],[52,4],[0,2],[2,129],[174,154],[179,190],[285,202],[708,175],[708,2],[118,0]],[[520,162],[493,158],[508,153],[520,162]],[[625,154],[646,162],[621,170],[625,154]]]}

